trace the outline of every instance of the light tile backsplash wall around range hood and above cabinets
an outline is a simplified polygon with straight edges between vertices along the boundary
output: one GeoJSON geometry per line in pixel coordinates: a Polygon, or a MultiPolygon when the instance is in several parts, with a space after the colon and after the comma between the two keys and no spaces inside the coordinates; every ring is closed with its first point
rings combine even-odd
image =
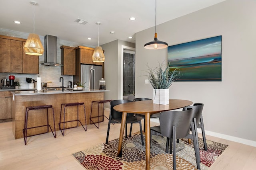
{"type": "MultiPolygon", "coordinates": [[[[0,28],[0,35],[6,35],[10,37],[17,37],[27,39],[28,33],[12,31],[9,29],[0,28]]],[[[42,44],[44,45],[44,36],[39,36],[42,44]]],[[[71,41],[65,41],[58,39],[57,37],[57,63],[60,63],[60,47],[62,45],[77,47],[79,45],[85,47],[92,47],[92,45],[86,45],[82,43],[76,43],[71,41]]],[[[60,77],[64,78],[64,86],[68,85],[68,81],[73,81],[73,76],[64,76],[60,74],[60,66],[42,66],[41,63],[44,63],[44,55],[39,56],[39,74],[17,74],[17,73],[0,73],[0,79],[8,79],[9,75],[14,75],[14,82],[20,82],[20,89],[28,89],[28,83],[26,82],[26,77],[33,78],[36,80],[36,77],[40,75],[42,82],[54,82],[56,86],[62,86],[62,82],[59,82],[60,77]]],[[[0,84],[2,86],[3,83],[0,84]]],[[[73,83],[74,84],[74,83],[73,83]]]]}

